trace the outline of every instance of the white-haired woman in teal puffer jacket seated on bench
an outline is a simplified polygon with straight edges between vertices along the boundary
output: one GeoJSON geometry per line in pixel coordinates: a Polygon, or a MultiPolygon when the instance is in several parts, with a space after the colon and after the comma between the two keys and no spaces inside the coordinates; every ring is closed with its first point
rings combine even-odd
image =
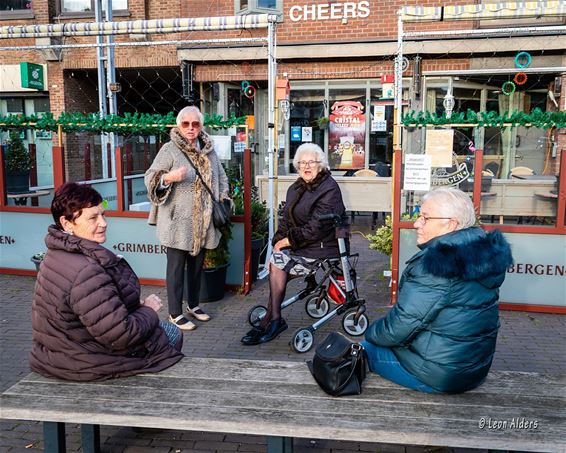
{"type": "Polygon", "coordinates": [[[397,304],[362,344],[370,370],[422,392],[480,385],[499,329],[499,287],[512,263],[499,231],[475,227],[470,197],[441,188],[423,197],[415,221],[421,249],[407,262],[397,304]]]}

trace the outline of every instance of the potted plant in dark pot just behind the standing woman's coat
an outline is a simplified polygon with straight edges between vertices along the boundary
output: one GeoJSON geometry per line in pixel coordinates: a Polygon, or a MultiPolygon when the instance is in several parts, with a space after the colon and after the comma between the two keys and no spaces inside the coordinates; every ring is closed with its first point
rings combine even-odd
{"type": "Polygon", "coordinates": [[[230,265],[230,251],[228,245],[232,238],[232,225],[225,225],[218,247],[206,250],[204,266],[200,282],[200,302],[215,302],[224,297],[226,286],[226,271],[230,265]]]}

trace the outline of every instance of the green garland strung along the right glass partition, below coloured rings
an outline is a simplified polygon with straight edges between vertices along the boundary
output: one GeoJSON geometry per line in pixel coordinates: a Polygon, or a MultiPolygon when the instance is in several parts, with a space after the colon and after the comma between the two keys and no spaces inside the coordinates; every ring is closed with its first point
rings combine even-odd
{"type": "Polygon", "coordinates": [[[494,111],[474,112],[468,109],[466,113],[456,112],[450,118],[446,118],[445,114],[438,116],[432,112],[415,112],[412,110],[403,116],[402,123],[406,127],[470,124],[480,127],[500,127],[501,129],[517,126],[550,129],[551,127],[566,127],[566,111],[543,112],[541,109],[535,108],[531,113],[514,111],[499,114],[494,111]]]}

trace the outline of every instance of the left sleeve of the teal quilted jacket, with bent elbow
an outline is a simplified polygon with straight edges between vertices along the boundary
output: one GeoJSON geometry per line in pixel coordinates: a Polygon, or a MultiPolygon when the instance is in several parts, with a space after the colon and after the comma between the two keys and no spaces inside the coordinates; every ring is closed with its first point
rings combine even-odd
{"type": "Polygon", "coordinates": [[[368,328],[366,340],[385,347],[408,346],[450,303],[450,286],[449,279],[409,273],[397,303],[368,328]]]}

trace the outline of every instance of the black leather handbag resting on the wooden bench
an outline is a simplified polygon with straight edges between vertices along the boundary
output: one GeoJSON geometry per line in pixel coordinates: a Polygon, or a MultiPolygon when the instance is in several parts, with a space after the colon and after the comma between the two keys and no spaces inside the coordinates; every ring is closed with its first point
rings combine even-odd
{"type": "Polygon", "coordinates": [[[331,332],[307,362],[320,388],[332,396],[359,395],[367,372],[367,356],[359,343],[331,332]]]}

